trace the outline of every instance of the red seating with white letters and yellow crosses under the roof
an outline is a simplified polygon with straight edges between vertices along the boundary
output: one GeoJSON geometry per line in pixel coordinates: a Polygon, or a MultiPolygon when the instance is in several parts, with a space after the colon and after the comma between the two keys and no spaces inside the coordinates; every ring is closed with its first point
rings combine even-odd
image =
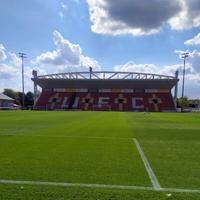
{"type": "Polygon", "coordinates": [[[112,110],[112,111],[174,111],[170,92],[52,92],[43,91],[34,109],[39,110],[112,110]]]}

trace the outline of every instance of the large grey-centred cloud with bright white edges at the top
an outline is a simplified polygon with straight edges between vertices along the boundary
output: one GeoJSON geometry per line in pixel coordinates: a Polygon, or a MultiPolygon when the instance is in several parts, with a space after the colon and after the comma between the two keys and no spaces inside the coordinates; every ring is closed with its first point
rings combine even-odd
{"type": "Polygon", "coordinates": [[[200,26],[199,0],[86,0],[92,31],[100,34],[149,35],[169,24],[182,30],[200,26]]]}

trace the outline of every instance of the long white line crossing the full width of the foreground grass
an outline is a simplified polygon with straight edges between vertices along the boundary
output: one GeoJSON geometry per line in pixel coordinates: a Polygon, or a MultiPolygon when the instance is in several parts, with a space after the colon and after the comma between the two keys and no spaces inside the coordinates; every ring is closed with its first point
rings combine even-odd
{"type": "Polygon", "coordinates": [[[0,180],[0,184],[46,185],[46,186],[59,186],[59,187],[83,187],[83,188],[100,188],[100,189],[143,190],[143,191],[157,191],[157,192],[200,193],[200,190],[192,190],[192,189],[161,188],[160,190],[157,190],[153,187],[85,184],[85,183],[58,183],[58,182],[40,182],[40,181],[0,180]]]}

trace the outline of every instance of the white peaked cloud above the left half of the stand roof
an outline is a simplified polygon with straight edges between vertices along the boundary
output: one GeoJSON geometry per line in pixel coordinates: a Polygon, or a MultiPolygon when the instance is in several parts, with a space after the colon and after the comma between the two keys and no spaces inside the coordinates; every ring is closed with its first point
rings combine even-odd
{"type": "Polygon", "coordinates": [[[80,45],[72,44],[64,39],[58,31],[54,31],[53,35],[56,50],[37,56],[32,61],[33,63],[55,67],[57,72],[77,71],[78,69],[85,71],[89,67],[93,67],[96,70],[100,69],[97,61],[82,55],[80,45]]]}

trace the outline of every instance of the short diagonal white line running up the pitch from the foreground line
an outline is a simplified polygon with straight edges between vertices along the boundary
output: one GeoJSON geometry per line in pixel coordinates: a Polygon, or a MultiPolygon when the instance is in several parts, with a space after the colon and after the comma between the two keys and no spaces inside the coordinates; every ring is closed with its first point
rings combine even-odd
{"type": "Polygon", "coordinates": [[[159,184],[159,182],[158,182],[158,180],[157,180],[157,178],[156,178],[156,176],[155,176],[155,174],[154,174],[154,172],[153,172],[153,170],[152,170],[152,168],[151,168],[146,156],[144,155],[144,153],[142,151],[142,148],[140,147],[138,141],[135,138],[133,140],[134,140],[134,142],[136,144],[136,147],[137,147],[137,149],[138,149],[138,151],[140,153],[140,156],[141,156],[142,161],[144,163],[144,166],[145,166],[145,168],[146,168],[146,170],[147,170],[147,172],[149,174],[149,178],[151,179],[151,182],[153,184],[154,189],[155,190],[161,190],[161,186],[160,186],[160,184],[159,184]]]}

